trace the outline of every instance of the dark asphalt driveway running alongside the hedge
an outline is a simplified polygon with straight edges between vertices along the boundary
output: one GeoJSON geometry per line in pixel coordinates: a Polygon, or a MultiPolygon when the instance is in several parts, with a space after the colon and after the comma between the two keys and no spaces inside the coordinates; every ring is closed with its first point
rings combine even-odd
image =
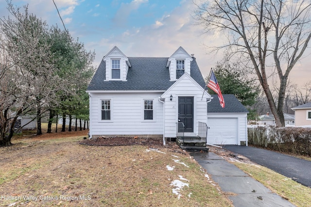
{"type": "Polygon", "coordinates": [[[311,187],[311,161],[250,146],[225,145],[224,148],[311,187]]]}

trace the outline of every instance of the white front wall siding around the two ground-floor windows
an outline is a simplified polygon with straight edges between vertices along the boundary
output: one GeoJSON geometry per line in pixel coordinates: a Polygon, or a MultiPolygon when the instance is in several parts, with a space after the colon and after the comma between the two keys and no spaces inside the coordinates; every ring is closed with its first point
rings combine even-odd
{"type": "Polygon", "coordinates": [[[91,93],[91,135],[163,135],[161,93],[91,93]],[[101,120],[101,100],[111,100],[111,120],[101,120]],[[154,120],[144,120],[144,99],[152,99],[154,120]]]}

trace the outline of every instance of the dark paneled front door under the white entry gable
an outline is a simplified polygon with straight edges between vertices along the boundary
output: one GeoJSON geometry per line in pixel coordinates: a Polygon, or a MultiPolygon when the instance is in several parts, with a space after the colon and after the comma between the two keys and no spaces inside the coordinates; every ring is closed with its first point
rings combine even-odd
{"type": "Polygon", "coordinates": [[[193,132],[193,97],[178,97],[178,119],[185,132],[193,132]]]}

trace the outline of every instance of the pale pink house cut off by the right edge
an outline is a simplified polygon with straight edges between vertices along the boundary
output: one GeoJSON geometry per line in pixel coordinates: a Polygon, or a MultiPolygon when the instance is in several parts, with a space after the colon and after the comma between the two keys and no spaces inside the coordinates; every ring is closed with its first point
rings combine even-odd
{"type": "Polygon", "coordinates": [[[311,127],[311,102],[292,108],[295,111],[295,127],[311,127]]]}

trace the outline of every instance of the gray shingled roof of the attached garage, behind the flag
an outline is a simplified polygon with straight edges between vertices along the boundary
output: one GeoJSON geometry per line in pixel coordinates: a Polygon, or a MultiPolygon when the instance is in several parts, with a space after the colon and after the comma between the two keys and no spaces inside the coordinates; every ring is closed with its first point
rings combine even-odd
{"type": "Polygon", "coordinates": [[[249,111],[233,94],[224,94],[225,108],[222,108],[217,95],[211,95],[212,101],[207,104],[207,113],[248,113],[249,111]]]}

